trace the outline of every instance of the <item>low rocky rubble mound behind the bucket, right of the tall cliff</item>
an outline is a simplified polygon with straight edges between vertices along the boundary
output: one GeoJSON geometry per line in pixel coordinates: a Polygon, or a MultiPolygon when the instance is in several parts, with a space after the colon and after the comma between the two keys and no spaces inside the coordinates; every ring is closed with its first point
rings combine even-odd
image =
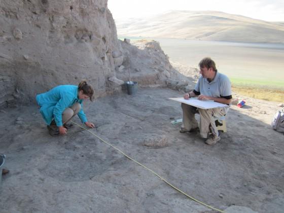
{"type": "MultiPolygon", "coordinates": [[[[118,68],[118,66],[121,67],[120,63],[116,66],[116,76],[119,79],[128,81],[130,70],[131,80],[137,81],[142,86],[165,87],[169,78],[187,81],[187,78],[172,67],[168,56],[163,52],[158,42],[141,40],[130,45],[127,40],[124,40],[120,43],[123,49],[123,68],[118,68]],[[126,70],[128,72],[123,72],[126,70]]],[[[115,60],[120,57],[115,58],[115,60]]]]}

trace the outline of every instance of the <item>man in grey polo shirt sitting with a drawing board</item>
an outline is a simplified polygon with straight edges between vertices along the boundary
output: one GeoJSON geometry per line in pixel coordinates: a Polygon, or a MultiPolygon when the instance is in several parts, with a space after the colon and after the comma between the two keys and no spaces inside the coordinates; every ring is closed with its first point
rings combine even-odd
{"type": "MultiPolygon", "coordinates": [[[[185,99],[197,97],[199,100],[214,100],[219,103],[231,104],[231,82],[227,76],[221,74],[216,69],[215,62],[209,58],[203,58],[199,62],[200,74],[197,84],[192,92],[184,95],[185,99]]],[[[227,114],[229,108],[215,108],[215,109],[197,109],[191,105],[182,103],[183,109],[183,124],[181,133],[196,130],[198,123],[195,119],[195,113],[200,114],[200,135],[205,140],[207,145],[215,145],[219,141],[220,135],[215,124],[215,117],[220,118],[227,114]]]]}

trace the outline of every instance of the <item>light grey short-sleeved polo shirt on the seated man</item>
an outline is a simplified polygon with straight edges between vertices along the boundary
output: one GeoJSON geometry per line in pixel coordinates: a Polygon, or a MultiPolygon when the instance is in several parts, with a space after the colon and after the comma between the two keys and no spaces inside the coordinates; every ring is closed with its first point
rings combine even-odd
{"type": "Polygon", "coordinates": [[[200,76],[194,90],[200,92],[202,95],[211,97],[225,97],[232,95],[229,78],[219,72],[216,73],[214,80],[210,83],[206,78],[200,76]]]}

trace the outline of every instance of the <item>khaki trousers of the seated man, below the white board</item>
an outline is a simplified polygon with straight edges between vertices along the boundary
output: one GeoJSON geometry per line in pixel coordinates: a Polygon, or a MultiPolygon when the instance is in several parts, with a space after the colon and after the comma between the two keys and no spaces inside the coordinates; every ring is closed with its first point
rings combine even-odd
{"type": "Polygon", "coordinates": [[[198,127],[198,123],[195,119],[195,114],[199,113],[200,115],[199,131],[201,137],[203,138],[207,138],[209,127],[212,134],[219,135],[218,129],[215,124],[215,120],[216,118],[225,116],[229,110],[229,108],[215,108],[215,109],[203,110],[200,108],[197,109],[196,107],[193,107],[185,103],[182,103],[182,109],[183,109],[182,128],[188,131],[198,127]]]}

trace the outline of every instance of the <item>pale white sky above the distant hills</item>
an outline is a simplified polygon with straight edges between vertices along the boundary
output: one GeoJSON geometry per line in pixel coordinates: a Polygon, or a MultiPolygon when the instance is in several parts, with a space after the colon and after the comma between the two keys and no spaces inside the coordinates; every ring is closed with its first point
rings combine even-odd
{"type": "Polygon", "coordinates": [[[212,10],[284,21],[284,0],[108,0],[108,8],[115,20],[149,17],[169,10],[212,10]]]}

